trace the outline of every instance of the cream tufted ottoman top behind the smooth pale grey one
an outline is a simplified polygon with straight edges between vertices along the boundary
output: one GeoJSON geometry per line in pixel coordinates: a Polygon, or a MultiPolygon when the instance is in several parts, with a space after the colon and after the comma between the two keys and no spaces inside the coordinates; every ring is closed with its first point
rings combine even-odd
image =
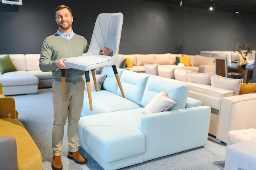
{"type": "Polygon", "coordinates": [[[231,130],[227,134],[227,147],[229,145],[254,138],[256,138],[256,129],[231,130]]]}

